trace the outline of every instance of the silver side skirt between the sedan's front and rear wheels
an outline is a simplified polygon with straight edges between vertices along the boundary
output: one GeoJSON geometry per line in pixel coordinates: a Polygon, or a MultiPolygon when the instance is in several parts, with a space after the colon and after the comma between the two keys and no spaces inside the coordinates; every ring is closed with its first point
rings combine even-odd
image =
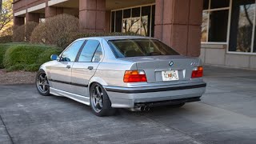
{"type": "Polygon", "coordinates": [[[52,87],[50,87],[50,94],[54,94],[56,96],[64,96],[66,98],[70,98],[77,102],[81,102],[83,104],[90,106],[90,98],[89,97],[85,97],[85,96],[78,95],[78,94],[72,94],[72,93],[69,93],[69,92],[66,92],[63,90],[54,89],[52,87]]]}

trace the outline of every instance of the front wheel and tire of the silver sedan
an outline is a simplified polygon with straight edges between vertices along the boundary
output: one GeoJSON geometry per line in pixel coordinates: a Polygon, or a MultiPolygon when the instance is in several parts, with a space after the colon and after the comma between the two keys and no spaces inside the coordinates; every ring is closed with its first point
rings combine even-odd
{"type": "Polygon", "coordinates": [[[35,78],[35,85],[39,94],[43,96],[50,96],[50,85],[44,70],[38,70],[38,74],[35,78]]]}

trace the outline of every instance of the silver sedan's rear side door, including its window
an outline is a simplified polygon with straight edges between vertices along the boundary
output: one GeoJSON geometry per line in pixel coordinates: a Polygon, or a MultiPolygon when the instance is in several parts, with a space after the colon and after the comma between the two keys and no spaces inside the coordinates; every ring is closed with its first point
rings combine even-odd
{"type": "Polygon", "coordinates": [[[98,40],[87,40],[72,68],[72,93],[89,96],[88,83],[102,59],[102,46],[98,40]]]}

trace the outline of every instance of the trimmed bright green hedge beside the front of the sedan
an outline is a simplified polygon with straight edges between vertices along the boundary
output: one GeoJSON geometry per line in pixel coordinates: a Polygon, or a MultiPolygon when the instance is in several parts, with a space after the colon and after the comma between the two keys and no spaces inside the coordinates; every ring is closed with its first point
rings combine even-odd
{"type": "Polygon", "coordinates": [[[2,67],[7,71],[27,70],[36,71],[44,62],[50,61],[51,54],[60,54],[61,50],[56,46],[6,44],[2,45],[4,52],[0,54],[2,67]]]}

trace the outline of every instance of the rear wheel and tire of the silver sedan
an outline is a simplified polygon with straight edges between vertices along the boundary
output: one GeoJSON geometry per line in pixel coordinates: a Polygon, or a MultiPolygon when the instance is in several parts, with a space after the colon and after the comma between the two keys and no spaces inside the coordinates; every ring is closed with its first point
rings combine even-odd
{"type": "Polygon", "coordinates": [[[90,107],[93,113],[99,117],[116,113],[116,110],[111,107],[110,98],[106,94],[106,90],[98,83],[93,83],[90,86],[90,107]]]}

